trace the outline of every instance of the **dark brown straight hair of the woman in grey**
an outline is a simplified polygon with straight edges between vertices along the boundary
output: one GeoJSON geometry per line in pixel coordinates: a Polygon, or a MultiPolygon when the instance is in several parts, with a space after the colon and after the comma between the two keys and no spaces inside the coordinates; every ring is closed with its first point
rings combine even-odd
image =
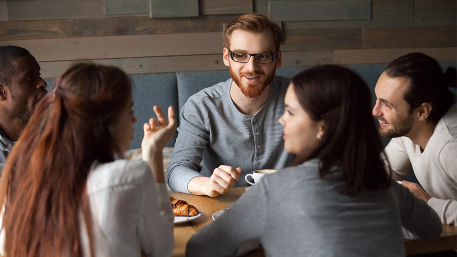
{"type": "Polygon", "coordinates": [[[363,79],[348,68],[321,65],[300,72],[292,83],[311,119],[324,120],[317,150],[306,158],[298,154],[294,164],[318,158],[321,178],[339,166],[347,181],[341,192],[348,195],[388,187],[383,145],[371,115],[371,93],[363,79]]]}

